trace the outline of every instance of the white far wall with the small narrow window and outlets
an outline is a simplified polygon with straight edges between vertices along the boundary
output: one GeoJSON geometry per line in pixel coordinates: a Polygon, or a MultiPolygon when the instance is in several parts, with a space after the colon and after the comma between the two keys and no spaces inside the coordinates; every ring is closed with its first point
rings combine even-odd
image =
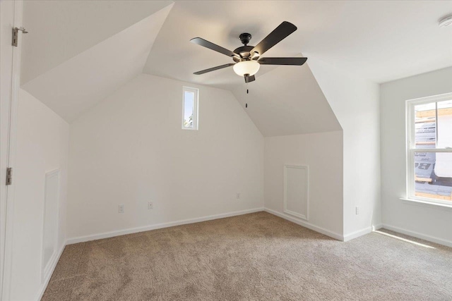
{"type": "Polygon", "coordinates": [[[71,123],[69,178],[69,238],[262,208],[263,136],[231,92],[139,75],[71,123]]]}

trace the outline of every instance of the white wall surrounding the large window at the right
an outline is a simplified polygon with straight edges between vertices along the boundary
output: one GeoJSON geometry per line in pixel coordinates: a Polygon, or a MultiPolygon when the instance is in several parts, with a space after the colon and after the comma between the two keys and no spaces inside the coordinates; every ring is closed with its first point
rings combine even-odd
{"type": "Polygon", "coordinates": [[[452,68],[381,85],[383,224],[452,245],[452,209],[402,201],[406,197],[405,101],[452,92],[452,68]]]}

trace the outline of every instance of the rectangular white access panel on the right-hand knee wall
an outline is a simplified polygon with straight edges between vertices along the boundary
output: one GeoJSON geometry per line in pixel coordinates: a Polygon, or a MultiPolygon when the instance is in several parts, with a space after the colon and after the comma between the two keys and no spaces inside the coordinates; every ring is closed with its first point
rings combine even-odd
{"type": "Polygon", "coordinates": [[[309,219],[308,166],[284,166],[284,212],[306,221],[309,219]]]}

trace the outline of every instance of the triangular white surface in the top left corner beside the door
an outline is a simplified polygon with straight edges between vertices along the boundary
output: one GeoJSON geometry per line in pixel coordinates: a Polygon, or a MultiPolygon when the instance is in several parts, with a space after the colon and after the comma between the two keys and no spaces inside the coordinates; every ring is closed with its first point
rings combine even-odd
{"type": "Polygon", "coordinates": [[[112,37],[172,1],[24,1],[21,84],[112,37]]]}

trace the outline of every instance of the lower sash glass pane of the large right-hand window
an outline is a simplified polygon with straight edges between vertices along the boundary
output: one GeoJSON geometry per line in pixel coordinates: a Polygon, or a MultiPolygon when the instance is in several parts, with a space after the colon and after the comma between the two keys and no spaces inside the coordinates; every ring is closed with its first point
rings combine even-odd
{"type": "Polygon", "coordinates": [[[452,201],[452,153],[415,152],[415,195],[452,201]]]}

